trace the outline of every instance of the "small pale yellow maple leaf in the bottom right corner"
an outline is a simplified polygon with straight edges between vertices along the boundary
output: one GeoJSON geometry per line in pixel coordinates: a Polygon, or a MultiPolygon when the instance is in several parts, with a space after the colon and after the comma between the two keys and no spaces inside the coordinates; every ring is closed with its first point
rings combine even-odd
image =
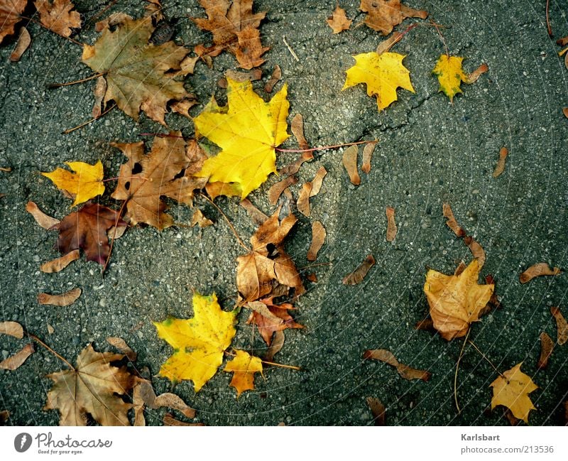
{"type": "Polygon", "coordinates": [[[538,389],[538,386],[532,382],[530,376],[520,371],[522,364],[523,362],[516,364],[489,384],[489,387],[493,388],[491,410],[498,405],[506,406],[515,418],[522,419],[528,424],[528,413],[536,410],[528,394],[538,389]]]}

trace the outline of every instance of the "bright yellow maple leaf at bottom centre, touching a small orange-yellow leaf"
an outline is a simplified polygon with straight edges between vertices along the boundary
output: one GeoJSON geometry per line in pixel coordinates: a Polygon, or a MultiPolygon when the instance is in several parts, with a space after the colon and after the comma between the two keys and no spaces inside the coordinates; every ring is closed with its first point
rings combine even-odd
{"type": "Polygon", "coordinates": [[[158,336],[173,347],[174,353],[160,368],[160,376],[178,382],[191,379],[195,392],[217,373],[223,352],[235,335],[238,310],[225,312],[217,295],[193,295],[193,318],[170,318],[153,322],[158,336]]]}

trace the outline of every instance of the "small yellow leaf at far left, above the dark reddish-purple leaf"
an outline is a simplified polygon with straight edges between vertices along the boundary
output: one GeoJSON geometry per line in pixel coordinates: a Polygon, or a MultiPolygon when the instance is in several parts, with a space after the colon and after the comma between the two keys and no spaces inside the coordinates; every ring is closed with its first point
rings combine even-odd
{"type": "Polygon", "coordinates": [[[99,160],[94,165],[83,162],[65,162],[75,173],[63,168],[57,168],[50,173],[41,173],[53,181],[59,189],[66,190],[75,195],[75,202],[71,205],[79,205],[87,202],[92,197],[102,195],[104,184],[102,183],[103,169],[99,160]]]}

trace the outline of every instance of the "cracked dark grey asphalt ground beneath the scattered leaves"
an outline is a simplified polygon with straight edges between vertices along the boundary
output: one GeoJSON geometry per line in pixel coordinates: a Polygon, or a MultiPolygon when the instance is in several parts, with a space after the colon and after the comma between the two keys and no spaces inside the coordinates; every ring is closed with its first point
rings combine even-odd
{"type": "MultiPolygon", "coordinates": [[[[342,1],[354,26],[361,23],[359,1],[342,1]]],[[[102,8],[96,1],[77,0],[85,19],[102,8]]],[[[431,71],[444,45],[427,21],[417,22],[393,51],[407,55],[415,94],[399,90],[398,102],[378,113],[376,101],[362,85],[341,91],[351,55],[376,48],[381,36],[366,26],[332,35],[325,18],[335,1],[255,1],[255,11],[268,10],[261,32],[271,47],[262,66],[265,80],[275,64],[288,82],[290,115],[301,113],[312,146],[379,139],[369,175],[361,185],[350,185],[342,167],[342,150],[317,153],[300,170],[300,182],[311,180],[324,166],[329,172],[322,191],[312,198],[312,217],[299,222],[286,246],[297,266],[307,266],[311,222],[319,219],[327,229],[327,242],[317,263],[317,283],[297,301],[295,318],[304,330],[285,332],[285,345],[275,359],[301,367],[301,371],[270,368],[266,380],[256,378],[256,390],[238,400],[229,387],[231,376],[219,372],[195,394],[189,382],[175,392],[197,409],[197,420],[207,425],[368,425],[372,424],[366,398],[380,398],[387,408],[389,425],[508,425],[502,408],[490,411],[496,373],[471,347],[466,347],[459,371],[454,406],[454,369],[461,340],[447,342],[413,325],[425,318],[422,293],[426,268],[452,273],[460,260],[469,261],[469,250],[447,229],[442,202],[452,205],[458,221],[484,246],[487,261],[482,276],[496,279],[502,308],[472,327],[470,338],[500,370],[523,362],[523,371],[539,386],[531,394],[537,410],[532,425],[563,423],[562,402],[568,394],[568,346],[557,347],[549,367],[537,371],[540,332],[556,337],[550,306],[559,306],[568,317],[568,283],[564,273],[521,285],[519,274],[531,264],[545,261],[568,267],[567,124],[562,107],[568,106],[568,70],[557,56],[555,39],[568,35],[567,5],[551,1],[550,17],[555,38],[547,35],[545,1],[409,1],[426,9],[442,28],[450,53],[464,56],[471,72],[487,63],[488,73],[474,85],[462,85],[450,104],[431,71]],[[293,48],[290,53],[283,39],[293,48]],[[498,151],[509,150],[505,173],[493,178],[498,151]],[[386,242],[386,206],[395,207],[398,235],[386,242]],[[343,286],[342,278],[372,253],[377,261],[359,286],[343,286]],[[395,369],[379,362],[365,362],[365,349],[391,349],[400,362],[432,372],[428,382],[405,381],[395,369]]],[[[175,40],[187,45],[209,43],[188,16],[204,17],[197,1],[164,0],[170,18],[180,18],[175,40]]],[[[111,11],[141,16],[138,1],[119,0],[111,11]]],[[[97,350],[111,350],[104,338],[123,337],[138,352],[137,367],[157,375],[170,347],[160,340],[152,321],[173,315],[192,315],[191,295],[215,292],[229,309],[236,296],[235,259],[241,253],[231,230],[219,213],[197,201],[215,224],[205,229],[172,227],[158,232],[136,227],[116,241],[104,278],[100,266],[83,258],[64,271],[39,271],[44,261],[58,256],[54,232],[38,227],[25,211],[33,200],[58,218],[70,212],[62,196],[40,171],[62,166],[64,161],[94,163],[101,159],[105,175],[116,175],[124,157],[111,141],[139,141],[144,132],[163,131],[141,116],[138,123],[118,110],[83,129],[62,131],[90,118],[93,82],[48,90],[51,82],[87,77],[80,63],[81,48],[29,25],[30,50],[19,63],[10,63],[13,40],[0,47],[0,320],[16,320],[26,330],[48,342],[57,352],[74,360],[94,342],[97,350]],[[80,287],[83,294],[68,307],[39,305],[42,291],[61,293],[80,287]],[[48,333],[47,325],[54,328],[48,333]]],[[[74,38],[92,44],[98,34],[87,25],[74,38]]],[[[223,53],[213,69],[198,63],[187,77],[200,105],[211,94],[224,102],[217,81],[236,60],[223,53]]],[[[256,82],[259,94],[264,82],[256,82]]],[[[173,129],[191,136],[190,121],[167,117],[173,129]]],[[[143,138],[148,143],[148,138],[143,138]]],[[[297,148],[290,139],[286,148],[297,148]]],[[[297,154],[280,154],[285,165],[297,154]]],[[[271,214],[266,191],[271,177],[250,199],[271,214]]],[[[111,186],[109,186],[111,190],[111,186]]],[[[101,199],[112,204],[107,194],[101,199]]],[[[248,239],[251,219],[236,199],[217,199],[237,232],[248,239]]],[[[191,210],[170,202],[170,212],[180,223],[190,221],[191,210]]],[[[241,313],[234,347],[250,347],[250,327],[241,313]]],[[[256,347],[261,347],[256,335],[256,347]]],[[[0,337],[4,357],[23,341],[0,337]]],[[[55,425],[56,411],[43,411],[51,381],[46,374],[62,369],[49,352],[38,352],[16,371],[0,371],[0,410],[11,413],[9,423],[55,425]]],[[[157,391],[167,391],[166,379],[153,377],[157,391]]],[[[148,424],[160,425],[165,409],[148,410],[148,424]]],[[[182,418],[177,414],[178,418],[182,418]]]]}

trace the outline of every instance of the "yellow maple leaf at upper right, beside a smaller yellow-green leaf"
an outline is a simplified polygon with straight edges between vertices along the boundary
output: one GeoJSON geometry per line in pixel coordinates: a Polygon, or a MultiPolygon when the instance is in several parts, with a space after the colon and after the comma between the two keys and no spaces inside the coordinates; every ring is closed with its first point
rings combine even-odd
{"type": "Polygon", "coordinates": [[[378,110],[385,109],[398,97],[398,87],[414,92],[410,72],[403,65],[405,55],[398,53],[361,53],[353,56],[355,65],[347,70],[342,90],[359,83],[367,84],[367,94],[377,97],[378,110]]]}

